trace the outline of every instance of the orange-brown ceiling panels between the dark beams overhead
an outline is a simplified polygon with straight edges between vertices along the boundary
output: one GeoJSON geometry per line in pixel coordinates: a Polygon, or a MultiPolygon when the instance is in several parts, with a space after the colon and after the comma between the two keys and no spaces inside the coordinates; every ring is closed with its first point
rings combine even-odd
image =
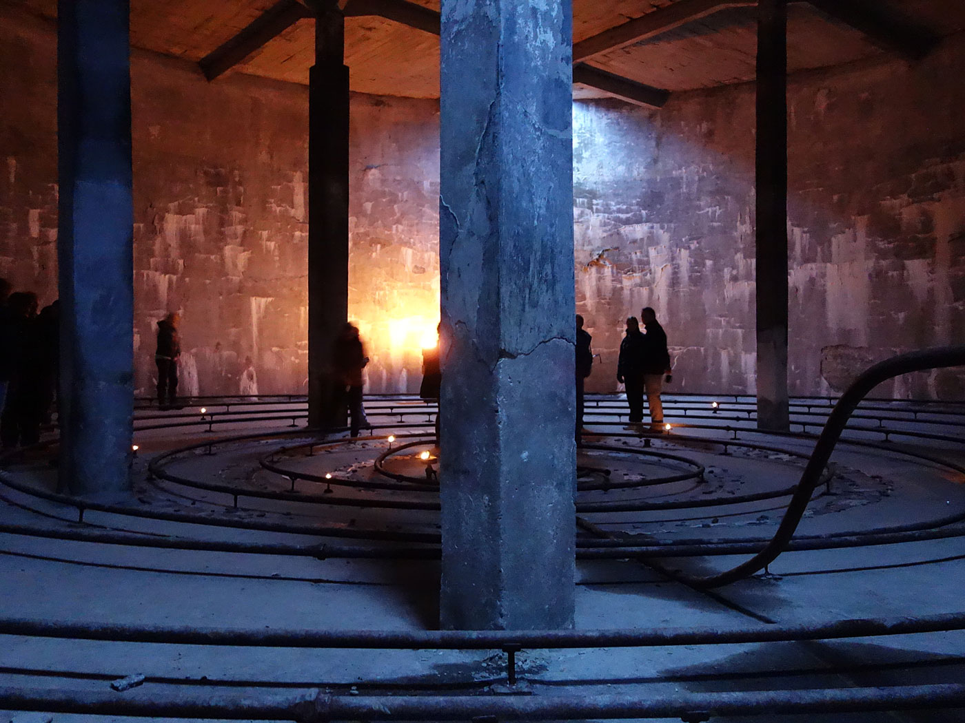
{"type": "MultiPolygon", "coordinates": [[[[848,0],[858,3],[859,7],[870,1],[848,0]]],[[[411,2],[431,11],[439,10],[440,0],[411,2]]],[[[714,0],[677,2],[712,4],[714,0]]],[[[822,5],[821,0],[813,3],[796,2],[789,7],[790,72],[836,66],[889,51],[881,49],[880,38],[871,38],[841,17],[832,17],[815,8],[822,5]]],[[[965,30],[962,0],[873,0],[873,3],[894,15],[892,19],[897,25],[893,23],[893,31],[905,22],[910,22],[913,30],[917,25],[936,36],[965,30]]],[[[56,0],[14,0],[14,4],[48,17],[56,14],[56,0]]],[[[278,0],[130,0],[131,42],[197,63],[277,5],[278,0]]],[[[578,43],[593,38],[673,5],[670,0],[573,0],[573,40],[578,43]]],[[[588,57],[586,63],[627,80],[671,92],[753,80],[757,50],[755,9],[739,7],[741,3],[732,0],[731,5],[738,7],[715,8],[716,12],[645,40],[598,52],[588,57]]],[[[307,84],[314,38],[314,20],[297,19],[230,72],[307,84]]],[[[353,91],[413,97],[439,95],[439,40],[424,30],[377,15],[347,17],[345,62],[350,68],[353,91]]],[[[578,93],[581,96],[601,94],[599,90],[586,88],[578,93]]]]}

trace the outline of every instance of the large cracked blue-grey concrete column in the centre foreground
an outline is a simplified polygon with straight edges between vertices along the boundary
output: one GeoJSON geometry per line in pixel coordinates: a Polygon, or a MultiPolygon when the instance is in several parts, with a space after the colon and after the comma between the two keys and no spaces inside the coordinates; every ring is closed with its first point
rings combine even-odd
{"type": "Polygon", "coordinates": [[[441,624],[573,623],[569,0],[443,0],[441,624]]]}

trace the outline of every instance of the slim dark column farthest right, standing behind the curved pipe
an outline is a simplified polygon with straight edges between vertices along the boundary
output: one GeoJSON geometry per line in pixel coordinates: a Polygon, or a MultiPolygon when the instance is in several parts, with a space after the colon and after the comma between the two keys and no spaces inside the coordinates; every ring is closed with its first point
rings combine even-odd
{"type": "Polygon", "coordinates": [[[758,429],[786,431],[787,4],[758,2],[758,429]]]}

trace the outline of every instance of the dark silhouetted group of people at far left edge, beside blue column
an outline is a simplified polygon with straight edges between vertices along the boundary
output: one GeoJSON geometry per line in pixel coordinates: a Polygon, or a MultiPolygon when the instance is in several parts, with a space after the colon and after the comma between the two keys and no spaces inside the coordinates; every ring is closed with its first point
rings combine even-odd
{"type": "Polygon", "coordinates": [[[0,279],[0,441],[36,444],[57,390],[60,304],[38,312],[37,294],[0,279]]]}

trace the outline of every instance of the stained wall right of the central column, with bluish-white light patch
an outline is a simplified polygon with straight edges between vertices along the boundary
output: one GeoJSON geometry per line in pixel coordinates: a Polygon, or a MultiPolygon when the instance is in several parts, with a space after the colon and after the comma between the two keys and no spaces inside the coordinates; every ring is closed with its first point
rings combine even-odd
{"type": "MultiPolygon", "coordinates": [[[[841,68],[788,91],[790,390],[833,394],[891,354],[965,342],[965,44],[917,67],[841,68]]],[[[754,88],[662,111],[574,106],[577,308],[613,388],[626,316],[652,306],[673,388],[755,388],[754,88]]],[[[876,392],[965,398],[965,372],[876,392]]]]}

